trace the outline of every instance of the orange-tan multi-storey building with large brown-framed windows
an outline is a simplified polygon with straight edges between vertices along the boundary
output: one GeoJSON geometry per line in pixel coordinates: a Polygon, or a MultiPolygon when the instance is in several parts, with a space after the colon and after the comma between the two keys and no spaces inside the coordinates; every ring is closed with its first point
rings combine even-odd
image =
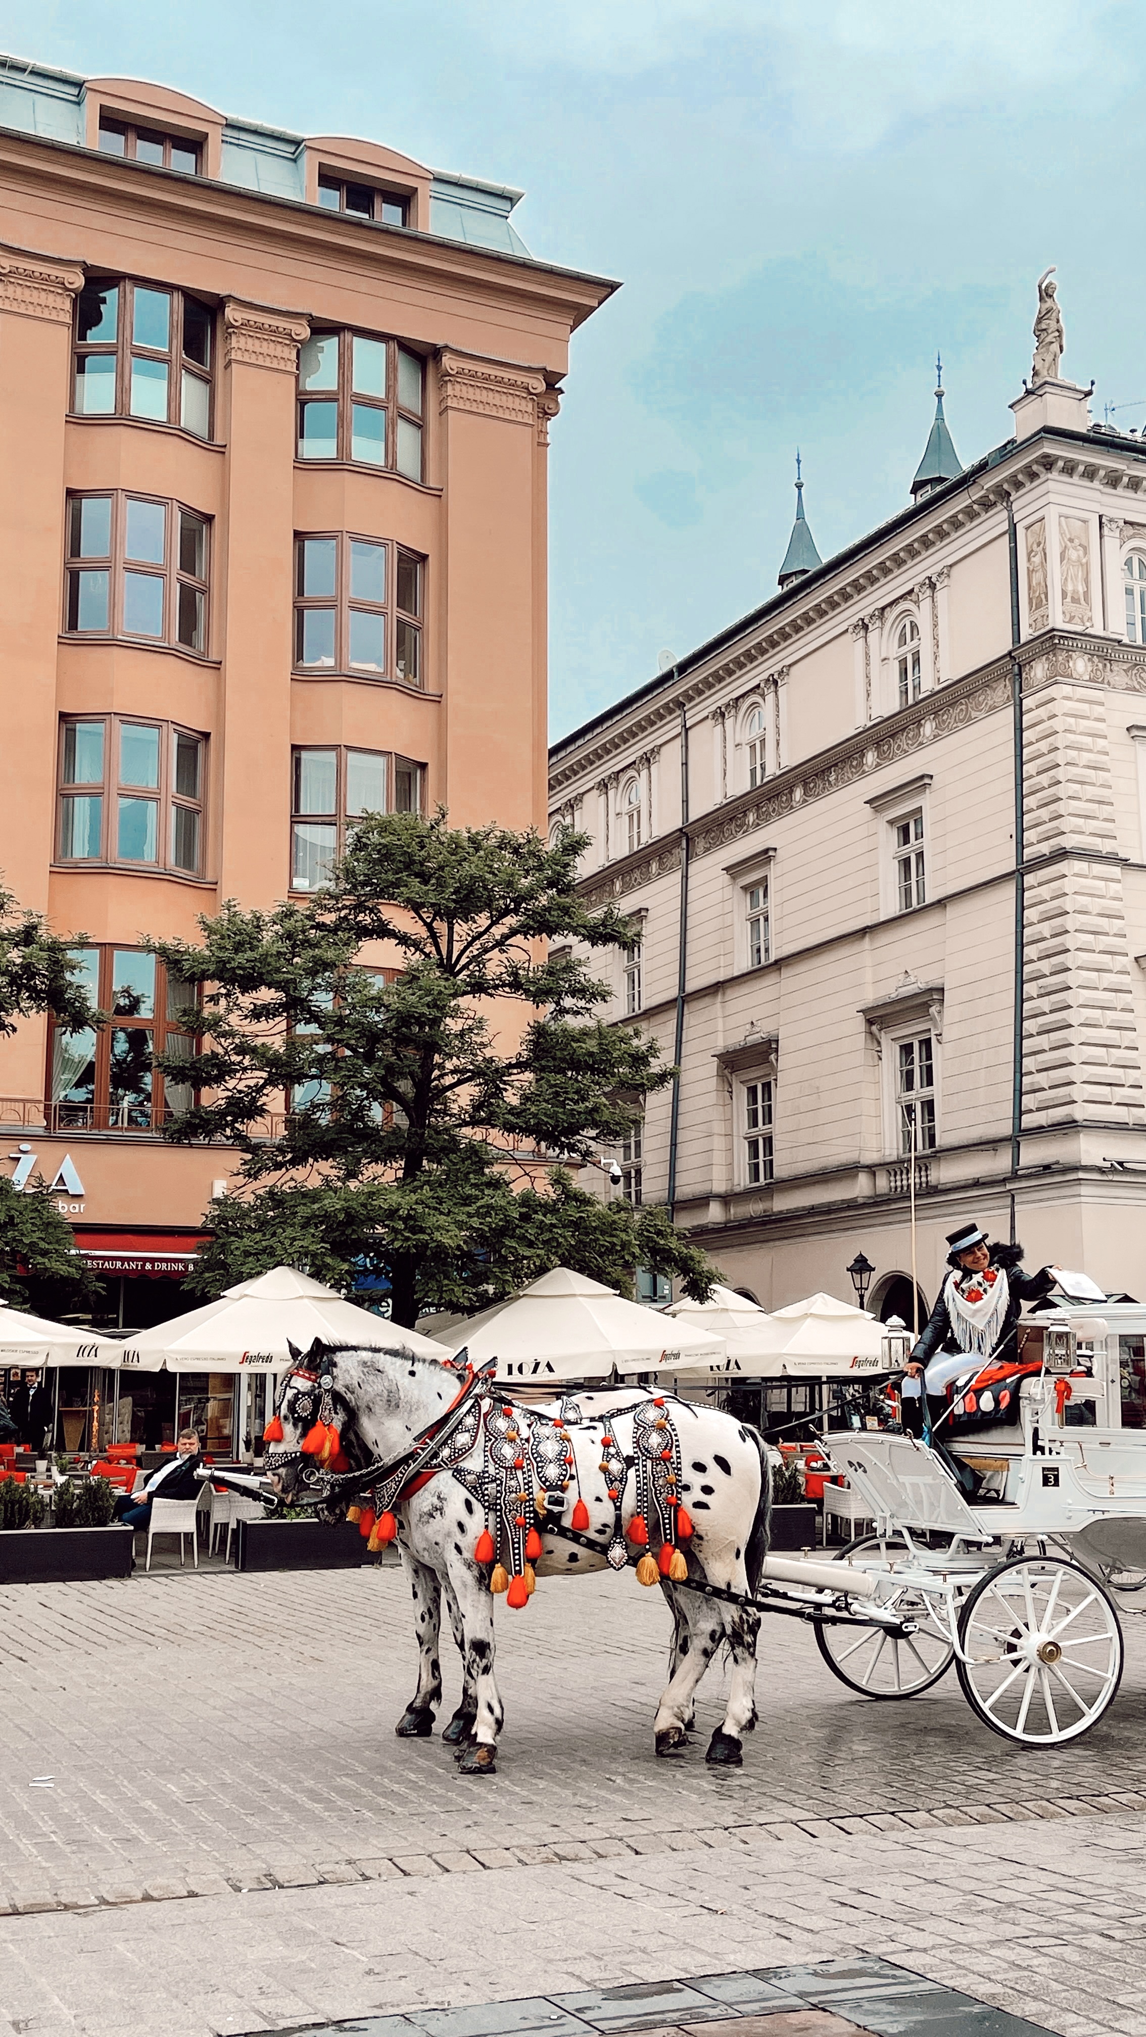
{"type": "Polygon", "coordinates": [[[0,1163],[163,1320],[235,1155],[147,935],[322,882],[355,815],[544,825],[546,442],[612,283],[522,194],[0,59],[0,872],[110,1023],[0,1043],[0,1163]]]}

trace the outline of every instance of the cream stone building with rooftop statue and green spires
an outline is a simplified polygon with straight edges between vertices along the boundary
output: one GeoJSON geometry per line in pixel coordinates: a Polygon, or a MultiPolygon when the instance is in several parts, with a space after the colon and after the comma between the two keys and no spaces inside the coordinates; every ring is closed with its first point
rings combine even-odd
{"type": "Polygon", "coordinates": [[[618,1021],[679,1063],[618,1153],[728,1281],[911,1318],[967,1214],[1146,1293],[1146,442],[1040,285],[1013,432],[551,750],[618,1021]]]}

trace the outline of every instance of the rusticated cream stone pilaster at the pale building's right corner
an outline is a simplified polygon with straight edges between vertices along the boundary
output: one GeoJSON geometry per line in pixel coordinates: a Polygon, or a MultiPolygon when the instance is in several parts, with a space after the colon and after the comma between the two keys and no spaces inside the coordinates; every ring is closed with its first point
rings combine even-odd
{"type": "Polygon", "coordinates": [[[1026,699],[1024,1126],[1146,1124],[1105,699],[1026,699]]]}

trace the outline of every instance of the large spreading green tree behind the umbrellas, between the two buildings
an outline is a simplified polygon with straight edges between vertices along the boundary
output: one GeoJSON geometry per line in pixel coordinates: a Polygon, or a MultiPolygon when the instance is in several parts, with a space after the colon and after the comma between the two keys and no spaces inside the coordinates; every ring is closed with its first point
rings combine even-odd
{"type": "Polygon", "coordinates": [[[200,1293],[281,1261],[338,1283],[367,1267],[412,1324],[555,1263],[622,1289],[636,1265],[712,1289],[663,1210],[604,1204],[563,1165],[624,1137],[671,1080],[638,1027],[595,1016],[608,990],[567,945],[634,937],[577,894],[583,847],[367,815],[328,890],[273,913],[228,902],[202,947],[153,943],[204,986],[202,1051],[163,1061],[204,1100],[167,1137],[245,1155],[241,1194],[208,1212],[200,1293]],[[387,970],[361,966],[371,947],[387,970]]]}

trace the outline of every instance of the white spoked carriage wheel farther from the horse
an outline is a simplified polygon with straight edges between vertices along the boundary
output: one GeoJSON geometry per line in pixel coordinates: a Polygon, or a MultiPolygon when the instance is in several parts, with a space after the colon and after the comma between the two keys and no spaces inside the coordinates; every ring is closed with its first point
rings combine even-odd
{"type": "Polygon", "coordinates": [[[979,1579],[958,1619],[967,1703],[1026,1748],[1077,1740],[1122,1681],[1122,1628],[1103,1587],[1062,1556],[1018,1556],[979,1579]]]}

